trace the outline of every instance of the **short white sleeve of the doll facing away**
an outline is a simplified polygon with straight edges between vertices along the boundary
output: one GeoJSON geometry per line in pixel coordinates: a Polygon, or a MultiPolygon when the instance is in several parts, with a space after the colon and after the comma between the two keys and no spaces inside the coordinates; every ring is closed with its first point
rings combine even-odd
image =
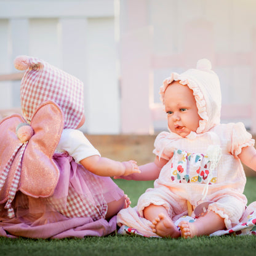
{"type": "Polygon", "coordinates": [[[80,162],[89,156],[100,156],[100,153],[92,144],[87,140],[84,134],[75,129],[64,129],[62,137],[56,148],[59,152],[68,152],[76,162],[80,162]]]}

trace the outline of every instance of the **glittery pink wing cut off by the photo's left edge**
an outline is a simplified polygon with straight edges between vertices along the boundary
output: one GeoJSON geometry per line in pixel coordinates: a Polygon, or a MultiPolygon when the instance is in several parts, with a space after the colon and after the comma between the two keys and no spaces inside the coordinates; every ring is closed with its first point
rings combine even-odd
{"type": "Polygon", "coordinates": [[[20,114],[12,114],[0,122],[0,203],[7,200],[18,166],[15,152],[17,153],[22,143],[16,135],[16,127],[21,122],[25,120],[20,114]]]}

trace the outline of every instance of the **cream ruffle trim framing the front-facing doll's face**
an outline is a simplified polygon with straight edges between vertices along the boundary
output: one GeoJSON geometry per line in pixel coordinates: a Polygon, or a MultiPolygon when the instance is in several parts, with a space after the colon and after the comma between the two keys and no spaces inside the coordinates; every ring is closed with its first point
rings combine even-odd
{"type": "Polygon", "coordinates": [[[164,79],[162,86],[160,87],[160,97],[162,103],[164,103],[164,93],[166,92],[166,88],[169,84],[173,81],[180,81],[180,84],[183,86],[187,85],[191,90],[193,90],[194,98],[196,99],[196,106],[198,107],[198,114],[202,118],[199,121],[199,127],[196,130],[198,134],[201,134],[204,129],[206,129],[207,122],[209,121],[209,117],[207,116],[207,108],[206,108],[206,100],[204,99],[204,95],[202,94],[201,90],[198,88],[195,82],[191,79],[183,78],[178,73],[171,73],[170,78],[164,79]]]}

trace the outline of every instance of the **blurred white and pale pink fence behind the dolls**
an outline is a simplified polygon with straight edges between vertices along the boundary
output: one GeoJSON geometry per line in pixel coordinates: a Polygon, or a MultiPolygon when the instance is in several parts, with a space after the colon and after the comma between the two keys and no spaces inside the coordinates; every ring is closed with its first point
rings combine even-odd
{"type": "Polygon", "coordinates": [[[0,113],[20,108],[25,54],[84,82],[86,134],[154,135],[167,130],[164,78],[209,58],[222,122],[255,134],[255,13],[255,0],[0,0],[0,113]]]}

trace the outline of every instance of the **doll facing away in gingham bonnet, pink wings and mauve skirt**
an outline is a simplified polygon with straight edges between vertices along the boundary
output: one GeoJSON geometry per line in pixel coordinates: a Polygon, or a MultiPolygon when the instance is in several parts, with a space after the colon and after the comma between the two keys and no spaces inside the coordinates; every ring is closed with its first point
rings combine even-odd
{"type": "Polygon", "coordinates": [[[135,161],[102,158],[81,131],[83,84],[43,60],[15,59],[25,70],[23,116],[0,122],[2,236],[102,236],[129,198],[111,176],[139,173],[135,161]],[[76,230],[76,228],[78,230],[76,230]]]}

